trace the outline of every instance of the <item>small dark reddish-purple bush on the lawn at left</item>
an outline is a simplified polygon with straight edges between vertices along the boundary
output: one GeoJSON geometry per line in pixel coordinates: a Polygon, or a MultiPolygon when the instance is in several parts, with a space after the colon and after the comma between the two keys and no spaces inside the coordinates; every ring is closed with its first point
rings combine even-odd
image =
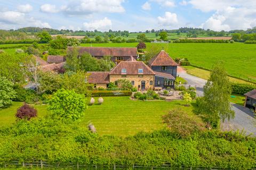
{"type": "Polygon", "coordinates": [[[33,117],[37,116],[37,111],[35,108],[30,107],[28,104],[21,106],[15,115],[17,118],[30,120],[33,117]]]}

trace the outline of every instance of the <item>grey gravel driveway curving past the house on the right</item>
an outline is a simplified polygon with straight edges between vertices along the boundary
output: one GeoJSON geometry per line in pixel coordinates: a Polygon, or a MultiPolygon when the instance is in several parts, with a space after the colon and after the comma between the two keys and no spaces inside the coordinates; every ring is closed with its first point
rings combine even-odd
{"type": "MultiPolygon", "coordinates": [[[[180,77],[188,81],[188,85],[196,85],[197,96],[203,96],[203,87],[206,80],[187,74],[186,71],[179,68],[178,73],[180,77]]],[[[244,131],[246,134],[256,136],[256,119],[250,109],[240,105],[231,104],[231,109],[235,111],[235,118],[233,120],[226,120],[221,123],[221,130],[223,131],[244,131]]]]}

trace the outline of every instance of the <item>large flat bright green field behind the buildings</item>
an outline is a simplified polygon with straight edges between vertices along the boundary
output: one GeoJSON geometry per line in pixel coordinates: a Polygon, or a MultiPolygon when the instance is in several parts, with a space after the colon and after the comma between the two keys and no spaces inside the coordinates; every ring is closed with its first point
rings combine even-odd
{"type": "MultiPolygon", "coordinates": [[[[92,47],[135,47],[138,43],[82,44],[92,47]]],[[[147,49],[153,43],[146,43],[147,49]]],[[[156,44],[164,48],[172,58],[188,58],[194,66],[210,69],[222,61],[228,74],[256,83],[256,45],[243,43],[169,43],[156,44]]]]}

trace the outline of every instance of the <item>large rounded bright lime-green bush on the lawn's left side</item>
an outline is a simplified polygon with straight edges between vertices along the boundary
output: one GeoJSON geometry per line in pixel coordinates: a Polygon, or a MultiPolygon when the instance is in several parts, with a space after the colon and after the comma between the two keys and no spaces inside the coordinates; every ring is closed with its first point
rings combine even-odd
{"type": "Polygon", "coordinates": [[[48,109],[55,115],[75,121],[84,115],[85,103],[84,95],[74,90],[60,89],[53,94],[48,109]]]}

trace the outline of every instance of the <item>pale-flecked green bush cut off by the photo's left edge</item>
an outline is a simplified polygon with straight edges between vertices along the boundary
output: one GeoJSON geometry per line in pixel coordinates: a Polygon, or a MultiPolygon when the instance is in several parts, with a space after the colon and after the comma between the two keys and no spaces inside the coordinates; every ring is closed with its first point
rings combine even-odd
{"type": "Polygon", "coordinates": [[[13,83],[5,77],[0,77],[0,109],[12,104],[12,99],[16,97],[13,90],[13,83]]]}

